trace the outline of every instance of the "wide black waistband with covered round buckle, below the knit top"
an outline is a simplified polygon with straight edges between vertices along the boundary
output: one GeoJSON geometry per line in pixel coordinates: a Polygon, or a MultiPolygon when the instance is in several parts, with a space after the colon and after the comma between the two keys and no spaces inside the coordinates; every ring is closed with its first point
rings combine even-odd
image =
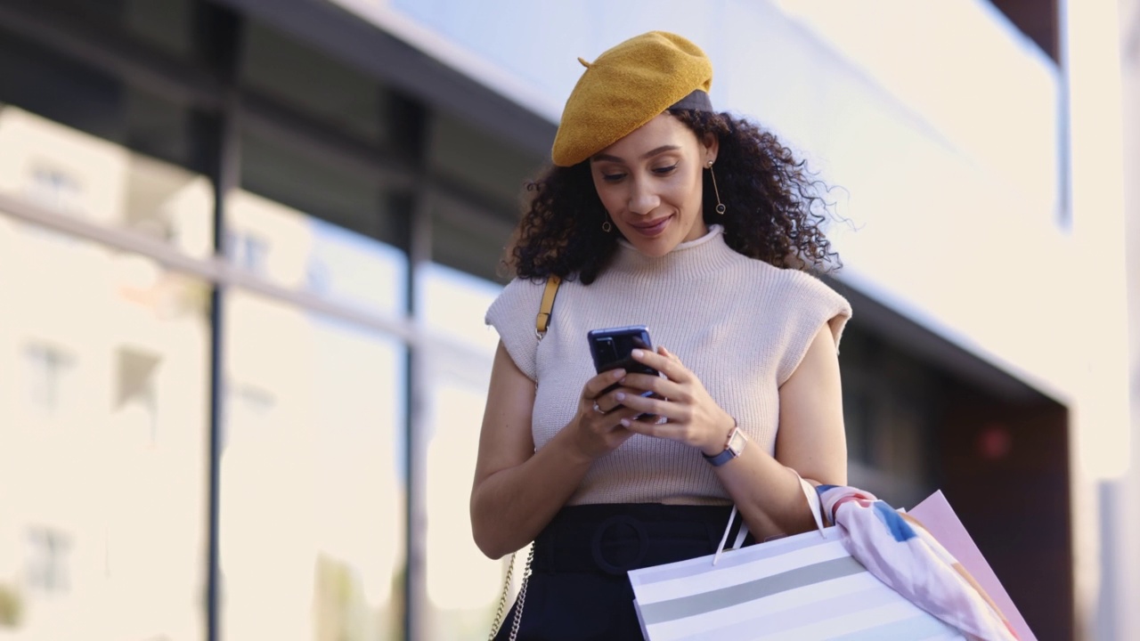
{"type": "MultiPolygon", "coordinates": [[[[563,508],[535,539],[531,569],[624,575],[632,569],[711,554],[731,512],[731,505],[661,503],[563,508]]],[[[738,518],[733,530],[740,522],[738,518]]],[[[734,535],[730,534],[730,541],[734,535]]]]}

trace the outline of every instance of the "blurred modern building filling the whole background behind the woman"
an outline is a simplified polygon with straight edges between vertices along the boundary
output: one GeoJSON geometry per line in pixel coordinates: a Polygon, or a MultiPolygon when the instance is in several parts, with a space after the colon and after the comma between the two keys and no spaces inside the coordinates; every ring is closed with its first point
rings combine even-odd
{"type": "Polygon", "coordinates": [[[1137,0],[0,0],[0,641],[484,635],[483,311],[652,29],[837,187],[853,485],[1140,635],[1137,0]]]}

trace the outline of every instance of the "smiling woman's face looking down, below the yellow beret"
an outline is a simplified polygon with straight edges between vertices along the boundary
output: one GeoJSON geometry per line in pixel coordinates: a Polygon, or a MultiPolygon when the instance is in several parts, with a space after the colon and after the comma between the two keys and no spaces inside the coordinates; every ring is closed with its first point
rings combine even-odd
{"type": "Polygon", "coordinates": [[[717,143],[712,136],[698,140],[679,120],[661,114],[591,159],[605,211],[638,251],[665,255],[708,233],[701,180],[717,143]]]}

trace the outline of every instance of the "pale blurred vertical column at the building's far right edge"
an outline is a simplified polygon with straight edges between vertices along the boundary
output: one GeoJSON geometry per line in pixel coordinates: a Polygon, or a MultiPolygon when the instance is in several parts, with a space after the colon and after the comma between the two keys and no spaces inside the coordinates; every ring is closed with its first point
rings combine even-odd
{"type": "Polygon", "coordinates": [[[1121,1],[1062,0],[1074,265],[1074,541],[1077,639],[1133,639],[1121,1]]]}

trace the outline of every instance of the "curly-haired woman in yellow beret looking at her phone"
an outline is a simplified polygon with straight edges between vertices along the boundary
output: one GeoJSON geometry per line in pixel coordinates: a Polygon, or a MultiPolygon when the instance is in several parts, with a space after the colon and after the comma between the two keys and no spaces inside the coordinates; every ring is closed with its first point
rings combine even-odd
{"type": "Polygon", "coordinates": [[[850,308],[796,269],[834,258],[803,163],[712,111],[711,65],[681,36],[583,65],[487,315],[471,519],[490,558],[535,541],[519,639],[640,639],[629,569],[711,553],[732,504],[757,539],[805,532],[797,474],[847,480],[850,308]],[[634,357],[662,376],[595,374],[586,333],[621,325],[649,327],[659,347],[634,357]]]}

